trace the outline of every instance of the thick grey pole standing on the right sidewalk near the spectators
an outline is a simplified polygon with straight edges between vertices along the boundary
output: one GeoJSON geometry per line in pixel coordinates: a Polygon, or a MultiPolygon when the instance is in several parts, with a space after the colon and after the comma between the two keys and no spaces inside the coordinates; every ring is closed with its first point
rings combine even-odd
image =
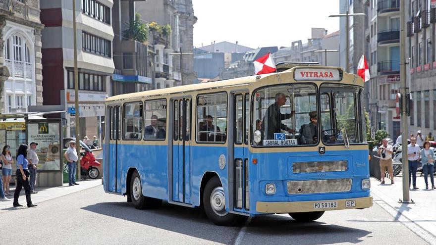
{"type": "MultiPolygon", "coordinates": [[[[403,199],[400,203],[415,203],[409,196],[409,161],[407,158],[407,85],[406,85],[406,2],[400,0],[400,93],[401,93],[401,137],[403,199]]],[[[410,71],[409,71],[410,72],[410,71]]],[[[393,177],[392,177],[393,178],[393,177]]]]}

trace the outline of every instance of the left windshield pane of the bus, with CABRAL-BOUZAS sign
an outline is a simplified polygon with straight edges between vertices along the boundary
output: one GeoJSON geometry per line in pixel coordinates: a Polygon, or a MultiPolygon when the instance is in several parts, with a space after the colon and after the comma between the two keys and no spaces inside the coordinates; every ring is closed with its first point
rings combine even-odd
{"type": "Polygon", "coordinates": [[[317,95],[314,85],[280,85],[254,93],[253,129],[262,133],[255,146],[318,144],[317,95]]]}

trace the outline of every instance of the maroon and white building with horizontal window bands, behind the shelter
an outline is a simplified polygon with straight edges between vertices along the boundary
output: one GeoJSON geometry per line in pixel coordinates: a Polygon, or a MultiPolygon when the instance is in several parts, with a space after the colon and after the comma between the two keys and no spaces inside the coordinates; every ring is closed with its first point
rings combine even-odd
{"type": "Polygon", "coordinates": [[[41,1],[43,96],[45,105],[63,105],[68,113],[66,137],[75,137],[75,116],[80,116],[80,135],[101,136],[105,98],[110,94],[112,60],[112,0],[41,1]],[[73,14],[76,15],[79,108],[75,108],[73,14]],[[73,112],[75,114],[73,114],[73,112]]]}

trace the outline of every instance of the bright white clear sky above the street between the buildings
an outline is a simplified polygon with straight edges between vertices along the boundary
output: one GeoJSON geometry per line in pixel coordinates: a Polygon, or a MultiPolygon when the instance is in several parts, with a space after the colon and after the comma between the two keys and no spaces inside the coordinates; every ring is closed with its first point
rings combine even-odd
{"type": "MultiPolygon", "coordinates": [[[[192,0],[194,46],[228,41],[250,48],[291,46],[311,28],[339,30],[339,0],[192,0]]],[[[304,43],[304,41],[303,41],[304,43]]]]}

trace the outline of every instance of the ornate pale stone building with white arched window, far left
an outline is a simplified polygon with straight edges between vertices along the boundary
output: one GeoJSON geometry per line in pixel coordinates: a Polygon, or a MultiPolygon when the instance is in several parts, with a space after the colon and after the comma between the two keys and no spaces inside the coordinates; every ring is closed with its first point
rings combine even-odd
{"type": "Polygon", "coordinates": [[[0,113],[43,103],[39,0],[0,0],[0,113]]]}

